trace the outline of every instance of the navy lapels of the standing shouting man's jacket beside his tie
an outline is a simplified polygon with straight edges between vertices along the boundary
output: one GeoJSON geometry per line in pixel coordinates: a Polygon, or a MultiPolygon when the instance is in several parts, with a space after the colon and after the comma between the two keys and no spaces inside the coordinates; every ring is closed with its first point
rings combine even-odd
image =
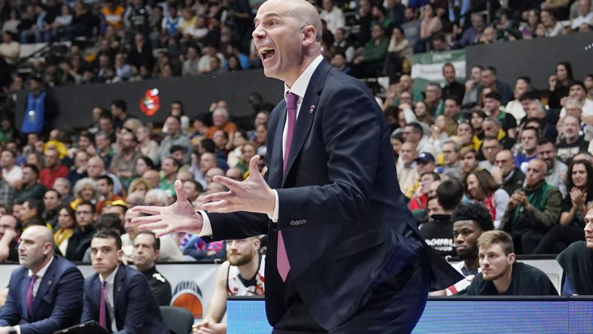
{"type": "MultiPolygon", "coordinates": [[[[313,119],[315,117],[315,111],[313,109],[313,112],[311,112],[311,108],[315,108],[315,106],[317,106],[321,90],[323,89],[323,85],[326,82],[327,72],[330,70],[330,68],[331,65],[329,62],[323,60],[317,66],[317,69],[315,69],[313,76],[311,76],[309,86],[307,87],[307,92],[302,99],[301,108],[298,112],[297,124],[295,124],[295,130],[292,136],[291,152],[288,155],[288,162],[286,162],[286,171],[282,176],[282,187],[284,187],[286,176],[291,170],[293,163],[297,159],[298,153],[301,152],[302,145],[305,143],[305,139],[309,134],[309,130],[311,130],[311,124],[313,124],[313,119]]],[[[284,109],[284,114],[286,114],[286,107],[284,109]]],[[[282,122],[282,128],[283,124],[284,122],[282,122]]],[[[280,143],[282,143],[282,135],[280,135],[280,143]]],[[[280,144],[280,146],[282,146],[282,144],[280,144]]],[[[280,161],[280,166],[282,166],[282,157],[280,157],[280,160],[273,161],[280,161]]]]}

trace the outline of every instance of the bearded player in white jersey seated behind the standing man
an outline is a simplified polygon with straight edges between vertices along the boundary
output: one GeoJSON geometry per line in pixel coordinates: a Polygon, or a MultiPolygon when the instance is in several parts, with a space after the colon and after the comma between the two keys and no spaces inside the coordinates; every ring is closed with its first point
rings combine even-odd
{"type": "Polygon", "coordinates": [[[227,311],[227,296],[264,295],[264,264],[259,255],[260,240],[251,237],[227,240],[227,261],[216,276],[216,287],[202,322],[193,325],[194,334],[226,333],[227,324],[220,323],[227,311]]]}

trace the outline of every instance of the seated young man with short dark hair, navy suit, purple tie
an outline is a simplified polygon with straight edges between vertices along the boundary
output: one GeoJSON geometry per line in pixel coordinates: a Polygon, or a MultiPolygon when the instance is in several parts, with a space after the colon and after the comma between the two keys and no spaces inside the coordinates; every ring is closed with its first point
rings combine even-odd
{"type": "Polygon", "coordinates": [[[94,235],[91,263],[97,273],[84,281],[81,322],[95,320],[110,333],[168,333],[145,276],[122,264],[122,257],[117,232],[94,235]]]}

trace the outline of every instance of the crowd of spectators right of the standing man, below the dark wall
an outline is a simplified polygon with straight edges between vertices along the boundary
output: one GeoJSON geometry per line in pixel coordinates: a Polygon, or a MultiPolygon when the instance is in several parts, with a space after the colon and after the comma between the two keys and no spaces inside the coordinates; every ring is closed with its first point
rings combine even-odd
{"type": "MultiPolygon", "coordinates": [[[[402,75],[383,103],[400,187],[420,232],[451,212],[445,203],[438,208],[431,189],[455,179],[464,187],[457,204],[482,203],[495,228],[511,234],[517,254],[557,254],[584,240],[593,186],[593,75],[561,62],[547,89],[519,76],[513,91],[495,68],[472,67],[465,87],[448,80],[454,71],[445,64],[447,83],[429,84],[423,97],[414,97],[402,75]]],[[[436,250],[452,251],[450,229],[430,234],[436,250]]]]}

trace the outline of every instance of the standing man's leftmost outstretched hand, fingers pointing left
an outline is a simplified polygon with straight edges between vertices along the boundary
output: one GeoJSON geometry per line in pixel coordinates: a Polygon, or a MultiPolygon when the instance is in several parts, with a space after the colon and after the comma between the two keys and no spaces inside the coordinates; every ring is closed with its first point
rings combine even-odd
{"type": "Polygon", "coordinates": [[[177,201],[170,206],[135,206],[134,212],[144,212],[152,216],[136,217],[132,219],[132,224],[140,224],[138,229],[161,230],[157,233],[157,238],[174,232],[190,232],[199,234],[202,231],[204,220],[202,215],[193,209],[185,194],[181,180],[175,181],[175,193],[177,201]]]}

